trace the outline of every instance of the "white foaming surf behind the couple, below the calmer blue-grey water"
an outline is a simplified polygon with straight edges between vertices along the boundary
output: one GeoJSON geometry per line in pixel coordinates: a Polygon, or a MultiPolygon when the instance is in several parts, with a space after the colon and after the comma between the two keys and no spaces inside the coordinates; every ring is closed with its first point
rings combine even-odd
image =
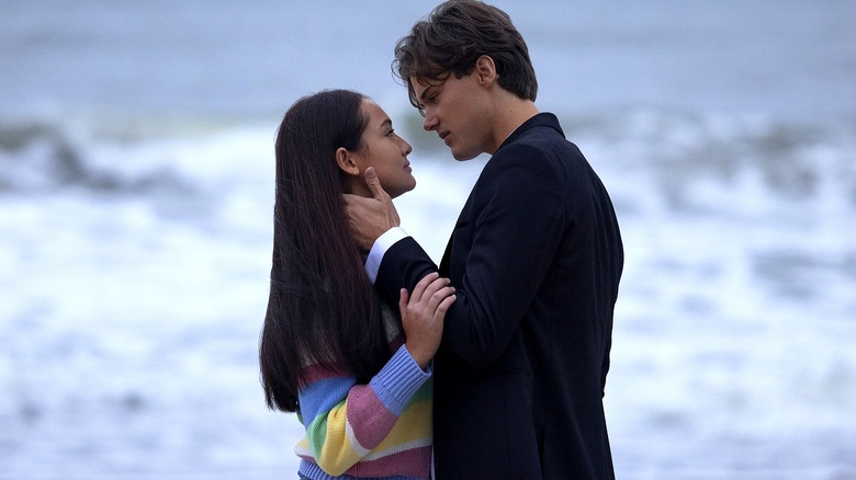
{"type": "MultiPolygon", "coordinates": [[[[606,397],[619,472],[852,473],[854,137],[784,151],[814,179],[793,192],[727,119],[660,118],[679,133],[657,141],[650,119],[613,121],[629,125],[621,136],[579,127],[575,140],[612,192],[627,248],[606,397]],[[743,158],[699,148],[710,142],[743,158]]],[[[2,161],[64,161],[45,141],[2,161]]],[[[32,167],[0,197],[8,475],[293,471],[300,425],[266,412],[256,350],[272,142],[268,125],[55,140],[75,145],[79,176],[32,167]]],[[[442,157],[412,155],[418,187],[396,201],[436,259],[484,163],[442,157]]]]}

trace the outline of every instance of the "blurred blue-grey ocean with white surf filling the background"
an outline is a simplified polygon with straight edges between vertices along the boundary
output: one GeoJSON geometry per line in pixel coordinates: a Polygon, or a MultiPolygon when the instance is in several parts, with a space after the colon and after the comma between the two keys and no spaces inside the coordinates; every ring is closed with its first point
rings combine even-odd
{"type": "MultiPolygon", "coordinates": [[[[856,4],[497,2],[609,188],[623,479],[856,478],[856,4]]],[[[273,137],[373,96],[436,259],[486,158],[390,72],[423,2],[0,0],[0,478],[294,478],[266,409],[273,137]]]]}

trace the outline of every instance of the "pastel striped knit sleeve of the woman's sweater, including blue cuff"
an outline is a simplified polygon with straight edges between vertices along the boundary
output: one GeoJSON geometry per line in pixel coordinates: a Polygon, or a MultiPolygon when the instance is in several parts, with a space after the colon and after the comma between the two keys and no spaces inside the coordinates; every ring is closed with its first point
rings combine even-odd
{"type": "Polygon", "coordinates": [[[368,385],[331,368],[309,367],[308,374],[299,390],[306,439],[295,450],[331,476],[345,473],[384,441],[431,376],[404,345],[368,385]]]}

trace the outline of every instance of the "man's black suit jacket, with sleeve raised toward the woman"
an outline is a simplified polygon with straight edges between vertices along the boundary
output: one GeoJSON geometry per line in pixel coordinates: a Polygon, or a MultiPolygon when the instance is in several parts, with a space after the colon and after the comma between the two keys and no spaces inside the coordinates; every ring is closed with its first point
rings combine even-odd
{"type": "MultiPolygon", "coordinates": [[[[457,288],[435,358],[444,479],[613,478],[602,396],[623,250],[609,195],[552,114],[475,183],[440,274],[457,288]]],[[[375,285],[395,301],[438,270],[412,239],[375,285]]]]}

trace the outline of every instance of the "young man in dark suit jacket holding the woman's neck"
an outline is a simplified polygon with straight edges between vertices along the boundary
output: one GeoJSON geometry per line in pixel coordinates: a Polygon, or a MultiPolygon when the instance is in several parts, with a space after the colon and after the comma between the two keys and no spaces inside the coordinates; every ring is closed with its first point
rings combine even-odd
{"type": "Polygon", "coordinates": [[[526,43],[503,11],[442,3],[395,55],[425,129],[458,160],[493,155],[439,268],[372,172],[374,199],[346,198],[382,295],[438,270],[457,289],[435,357],[437,478],[613,478],[602,396],[623,250],[607,191],[536,107],[526,43]]]}

